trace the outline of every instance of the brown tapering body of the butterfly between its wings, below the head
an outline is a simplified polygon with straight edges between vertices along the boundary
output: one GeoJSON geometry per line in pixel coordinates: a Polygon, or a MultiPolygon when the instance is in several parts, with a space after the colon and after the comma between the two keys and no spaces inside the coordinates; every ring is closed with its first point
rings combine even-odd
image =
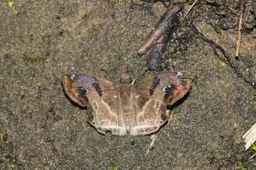
{"type": "Polygon", "coordinates": [[[128,131],[131,126],[131,116],[132,116],[132,106],[133,106],[132,98],[133,98],[132,85],[128,83],[122,83],[119,86],[119,100],[120,100],[119,107],[128,131]]]}

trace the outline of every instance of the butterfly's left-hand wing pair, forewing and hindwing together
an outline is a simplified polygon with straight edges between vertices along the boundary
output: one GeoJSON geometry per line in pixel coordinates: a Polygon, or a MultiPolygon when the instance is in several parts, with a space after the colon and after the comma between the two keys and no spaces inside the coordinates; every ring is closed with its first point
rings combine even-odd
{"type": "Polygon", "coordinates": [[[127,133],[116,97],[118,85],[103,78],[76,74],[62,76],[62,84],[70,99],[87,106],[88,122],[96,130],[120,136],[127,133]]]}

